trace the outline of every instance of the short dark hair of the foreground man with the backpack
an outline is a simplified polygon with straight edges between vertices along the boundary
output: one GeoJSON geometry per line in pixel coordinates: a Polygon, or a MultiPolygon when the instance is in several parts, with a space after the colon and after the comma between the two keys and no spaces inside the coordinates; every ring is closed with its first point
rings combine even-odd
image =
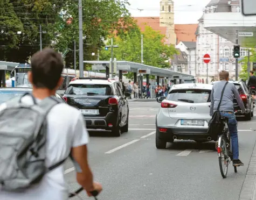
{"type": "Polygon", "coordinates": [[[51,48],[35,53],[31,58],[33,84],[37,88],[56,88],[63,71],[63,59],[51,48]]]}

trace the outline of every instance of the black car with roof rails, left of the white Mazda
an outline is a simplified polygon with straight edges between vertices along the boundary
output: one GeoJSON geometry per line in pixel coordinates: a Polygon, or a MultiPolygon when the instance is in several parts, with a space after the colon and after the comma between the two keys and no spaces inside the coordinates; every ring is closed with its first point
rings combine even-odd
{"type": "Polygon", "coordinates": [[[81,110],[88,129],[112,131],[119,137],[128,132],[129,92],[122,94],[114,78],[77,78],[72,80],[63,98],[81,110]]]}

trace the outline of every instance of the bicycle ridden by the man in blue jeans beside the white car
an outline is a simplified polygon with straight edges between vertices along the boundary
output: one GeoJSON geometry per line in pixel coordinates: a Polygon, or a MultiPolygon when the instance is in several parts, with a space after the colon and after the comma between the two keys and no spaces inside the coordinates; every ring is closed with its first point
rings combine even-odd
{"type": "MultiPolygon", "coordinates": [[[[238,110],[235,113],[241,113],[241,110],[238,110]]],[[[229,127],[227,123],[229,122],[229,118],[221,117],[222,119],[222,134],[219,135],[218,139],[218,158],[219,158],[219,168],[220,174],[222,174],[223,178],[227,177],[227,168],[229,167],[231,161],[233,161],[233,153],[232,153],[232,144],[231,144],[231,134],[229,132],[229,127]],[[222,163],[224,161],[224,163],[222,163]],[[224,169],[223,169],[224,167],[224,169]]],[[[237,173],[237,167],[234,166],[234,172],[237,173]]]]}

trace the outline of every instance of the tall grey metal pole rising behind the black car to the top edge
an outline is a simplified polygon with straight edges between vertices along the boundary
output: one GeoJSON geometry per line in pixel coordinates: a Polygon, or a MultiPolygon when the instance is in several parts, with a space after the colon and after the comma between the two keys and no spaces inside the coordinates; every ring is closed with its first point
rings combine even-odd
{"type": "Polygon", "coordinates": [[[79,21],[79,76],[84,77],[84,49],[82,41],[82,0],[78,0],[78,21],[79,21]]]}

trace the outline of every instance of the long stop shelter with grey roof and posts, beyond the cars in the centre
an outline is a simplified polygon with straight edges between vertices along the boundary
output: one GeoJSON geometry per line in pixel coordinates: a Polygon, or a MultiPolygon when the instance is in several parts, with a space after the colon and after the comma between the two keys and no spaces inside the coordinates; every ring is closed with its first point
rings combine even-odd
{"type": "MultiPolygon", "coordinates": [[[[119,71],[119,78],[122,79],[123,73],[133,72],[134,82],[137,82],[138,75],[146,75],[147,83],[149,83],[149,75],[156,76],[157,84],[160,84],[160,78],[168,78],[174,80],[174,83],[182,83],[182,80],[194,81],[195,77],[192,75],[175,72],[169,69],[162,69],[158,67],[148,66],[141,63],[130,61],[114,61],[116,63],[116,72],[119,71]]],[[[92,66],[92,70],[106,70],[106,77],[109,77],[110,61],[84,61],[92,66]]]]}

